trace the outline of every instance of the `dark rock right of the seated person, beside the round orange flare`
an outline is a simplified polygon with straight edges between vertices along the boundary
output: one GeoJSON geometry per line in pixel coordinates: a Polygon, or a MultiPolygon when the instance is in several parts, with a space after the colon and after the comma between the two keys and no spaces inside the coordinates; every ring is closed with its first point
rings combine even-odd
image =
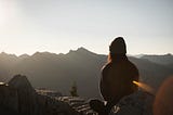
{"type": "Polygon", "coordinates": [[[155,97],[145,91],[136,91],[124,97],[115,105],[110,115],[152,115],[152,103],[155,97]]]}

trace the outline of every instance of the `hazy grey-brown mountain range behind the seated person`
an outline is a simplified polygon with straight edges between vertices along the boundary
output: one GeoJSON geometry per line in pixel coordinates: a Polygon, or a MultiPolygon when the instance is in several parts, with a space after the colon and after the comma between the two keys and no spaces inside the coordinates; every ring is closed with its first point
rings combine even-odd
{"type": "MultiPolygon", "coordinates": [[[[173,75],[173,55],[129,56],[139,69],[141,81],[158,89],[173,75]]],[[[107,55],[96,54],[84,48],[70,50],[67,54],[36,52],[32,55],[0,53],[0,81],[8,81],[16,74],[26,75],[35,88],[57,90],[65,95],[74,82],[84,98],[101,98],[98,82],[101,69],[107,55]]]]}

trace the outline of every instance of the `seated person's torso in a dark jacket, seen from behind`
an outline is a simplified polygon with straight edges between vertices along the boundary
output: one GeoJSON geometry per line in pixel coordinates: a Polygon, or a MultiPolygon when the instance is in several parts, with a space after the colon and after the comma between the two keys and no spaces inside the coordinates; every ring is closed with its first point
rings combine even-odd
{"type": "MultiPolygon", "coordinates": [[[[117,55],[118,56],[118,55],[117,55]]],[[[105,101],[116,104],[122,97],[137,90],[133,80],[138,81],[138,71],[127,56],[117,58],[102,71],[101,93],[105,101]]]]}

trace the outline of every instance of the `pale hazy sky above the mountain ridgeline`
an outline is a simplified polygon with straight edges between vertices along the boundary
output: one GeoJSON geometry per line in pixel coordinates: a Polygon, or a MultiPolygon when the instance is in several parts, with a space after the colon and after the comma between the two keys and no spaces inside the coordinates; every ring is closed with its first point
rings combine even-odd
{"type": "Polygon", "coordinates": [[[173,0],[0,0],[0,52],[106,54],[118,36],[129,54],[173,53],[173,0]]]}

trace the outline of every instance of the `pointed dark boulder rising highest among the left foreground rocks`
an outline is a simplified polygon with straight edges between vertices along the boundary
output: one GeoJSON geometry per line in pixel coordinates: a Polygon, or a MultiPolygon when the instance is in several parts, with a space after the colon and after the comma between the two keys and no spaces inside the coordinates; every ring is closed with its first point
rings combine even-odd
{"type": "Polygon", "coordinates": [[[9,87],[14,88],[18,95],[18,112],[25,115],[37,114],[37,93],[26,76],[16,75],[9,81],[9,87]]]}

